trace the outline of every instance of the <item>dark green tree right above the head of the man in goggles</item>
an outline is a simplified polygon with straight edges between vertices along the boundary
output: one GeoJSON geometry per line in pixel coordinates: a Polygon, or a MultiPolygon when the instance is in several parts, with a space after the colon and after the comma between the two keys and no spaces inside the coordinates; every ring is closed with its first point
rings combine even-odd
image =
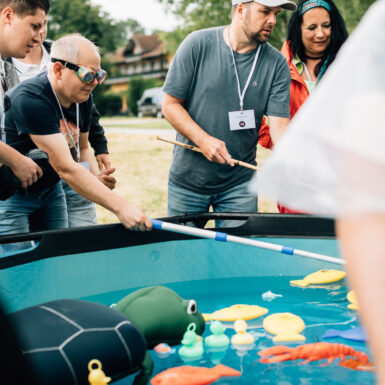
{"type": "Polygon", "coordinates": [[[57,40],[68,33],[81,33],[103,52],[116,49],[116,23],[90,0],[51,0],[48,38],[57,40]]]}

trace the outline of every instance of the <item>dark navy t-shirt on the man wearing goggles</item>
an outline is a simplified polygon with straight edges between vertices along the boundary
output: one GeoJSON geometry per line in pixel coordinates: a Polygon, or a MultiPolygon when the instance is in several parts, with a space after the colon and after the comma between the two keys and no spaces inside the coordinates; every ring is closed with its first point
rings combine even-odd
{"type": "MultiPolygon", "coordinates": [[[[63,113],[76,142],[76,104],[63,108],[63,113]]],[[[25,80],[6,94],[5,101],[6,143],[22,154],[37,148],[29,137],[63,133],[69,147],[73,147],[71,136],[49,83],[47,73],[25,80]]],[[[88,132],[92,118],[92,97],[79,104],[80,132],[88,132]]],[[[73,148],[71,150],[74,153],[73,148]]]]}

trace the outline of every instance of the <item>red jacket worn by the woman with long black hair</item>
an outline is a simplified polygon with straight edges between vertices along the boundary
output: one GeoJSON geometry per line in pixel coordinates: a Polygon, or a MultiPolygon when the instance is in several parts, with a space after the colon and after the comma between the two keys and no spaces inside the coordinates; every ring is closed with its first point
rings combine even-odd
{"type": "MultiPolygon", "coordinates": [[[[293,118],[299,108],[309,96],[309,91],[304,80],[299,75],[296,66],[293,64],[293,53],[290,51],[289,43],[285,41],[281,49],[282,55],[286,58],[290,69],[291,85],[290,85],[290,117],[293,118]]],[[[266,118],[262,120],[261,128],[259,130],[258,143],[265,148],[272,148],[273,142],[270,137],[269,125],[266,124],[266,118]]],[[[292,211],[278,204],[280,213],[298,213],[292,211]]]]}

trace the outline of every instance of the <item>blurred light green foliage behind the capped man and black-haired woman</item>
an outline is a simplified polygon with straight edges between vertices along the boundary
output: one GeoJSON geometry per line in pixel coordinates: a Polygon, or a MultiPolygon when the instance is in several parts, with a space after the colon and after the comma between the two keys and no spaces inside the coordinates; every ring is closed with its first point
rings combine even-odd
{"type": "MultiPolygon", "coordinates": [[[[192,31],[226,25],[231,22],[231,1],[225,0],[159,0],[172,9],[172,12],[182,21],[182,27],[172,32],[163,32],[166,52],[175,53],[182,40],[192,31]]],[[[375,0],[335,0],[335,3],[345,19],[349,32],[352,32],[375,0]]],[[[277,19],[277,24],[269,42],[280,49],[287,36],[287,25],[290,12],[283,11],[277,19]]]]}

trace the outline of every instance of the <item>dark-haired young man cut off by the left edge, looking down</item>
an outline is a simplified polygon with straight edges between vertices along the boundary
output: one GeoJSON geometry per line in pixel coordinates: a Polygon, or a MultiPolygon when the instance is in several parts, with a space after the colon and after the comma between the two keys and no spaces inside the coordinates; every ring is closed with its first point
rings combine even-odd
{"type": "MultiPolygon", "coordinates": [[[[38,41],[49,8],[48,0],[0,0],[0,118],[3,116],[3,94],[8,88],[1,57],[25,57],[38,41]]],[[[42,175],[42,170],[31,159],[3,143],[3,129],[1,131],[0,197],[6,199],[9,178],[12,179],[10,170],[22,187],[36,182],[42,175]]]]}

